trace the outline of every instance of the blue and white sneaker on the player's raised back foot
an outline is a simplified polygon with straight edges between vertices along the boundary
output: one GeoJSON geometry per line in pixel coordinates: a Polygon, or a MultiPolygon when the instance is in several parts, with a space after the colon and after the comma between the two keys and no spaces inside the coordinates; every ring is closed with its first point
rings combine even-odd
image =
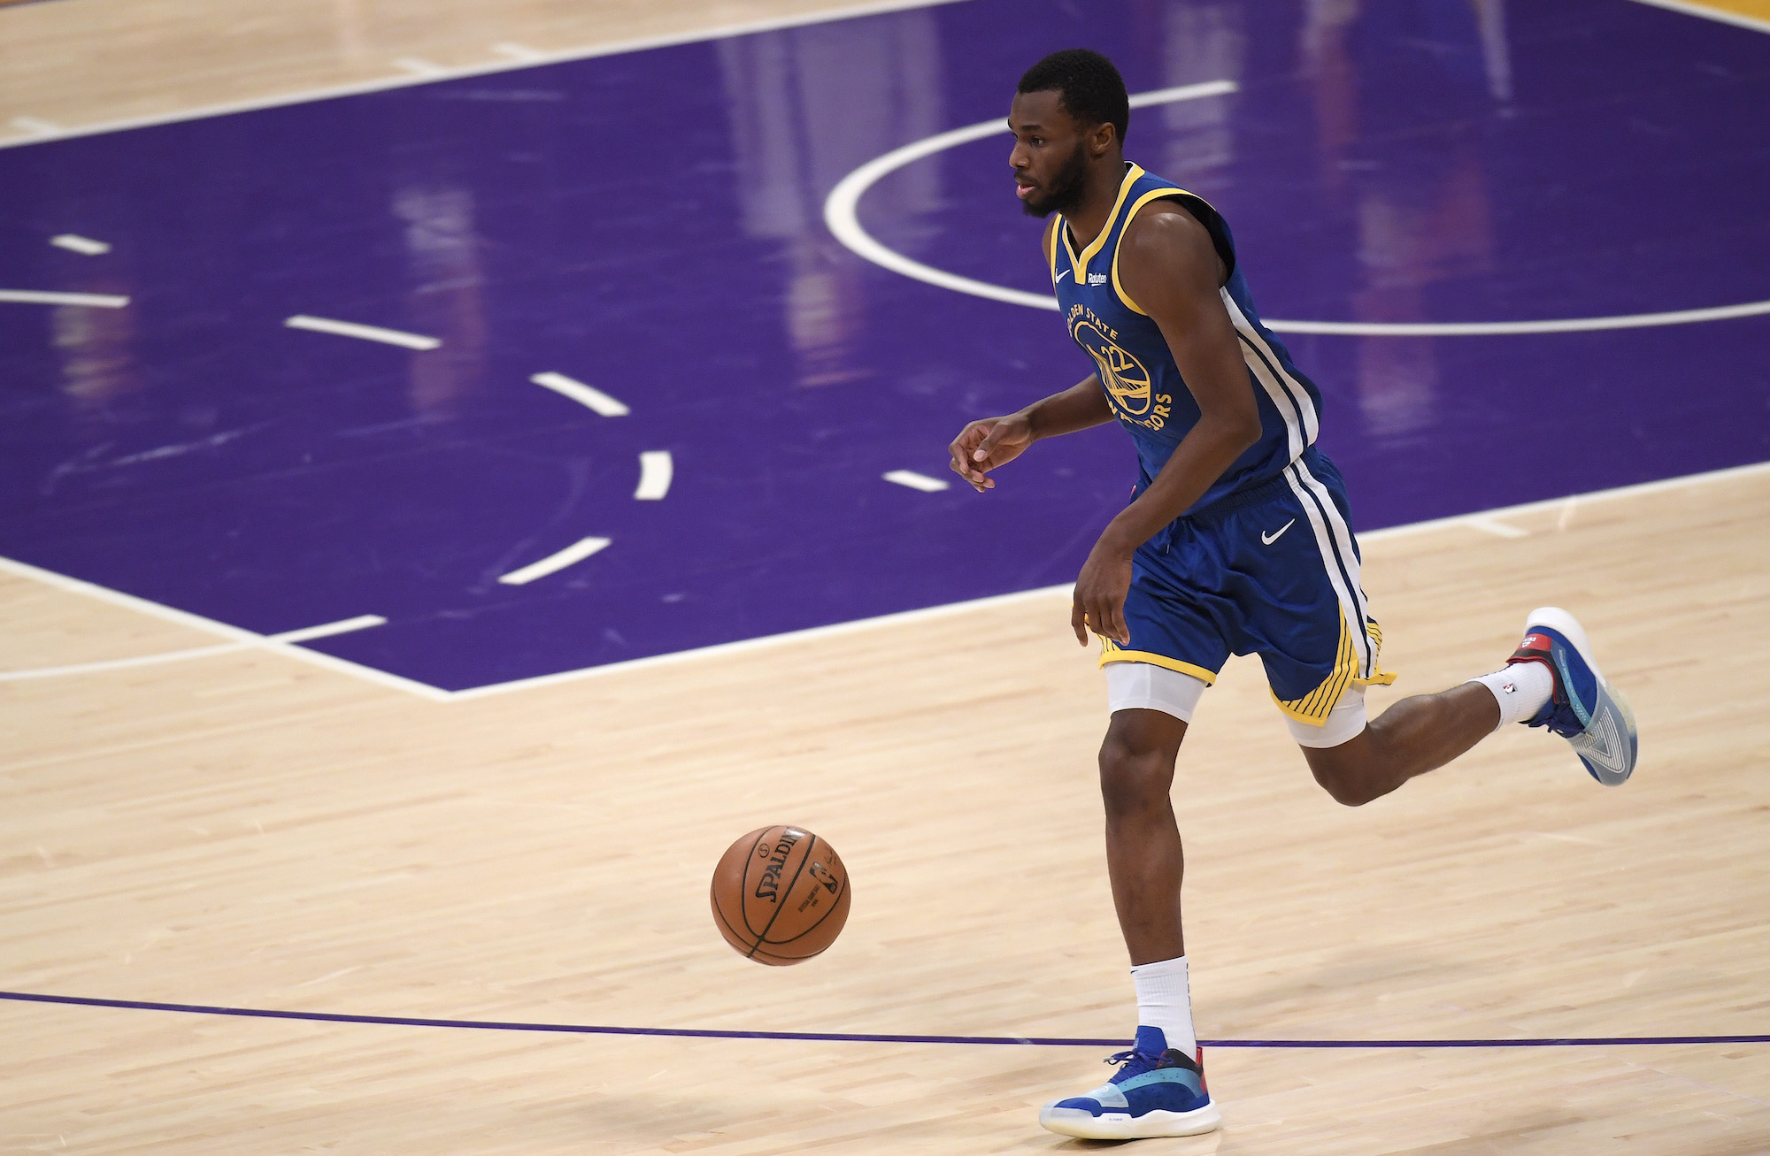
{"type": "Polygon", "coordinates": [[[1598,673],[1591,643],[1579,620],[1558,606],[1542,606],[1524,620],[1524,642],[1506,659],[1542,663],[1554,675],[1554,695],[1526,726],[1547,726],[1574,744],[1591,778],[1605,787],[1623,783],[1635,769],[1641,741],[1628,700],[1598,673]]]}

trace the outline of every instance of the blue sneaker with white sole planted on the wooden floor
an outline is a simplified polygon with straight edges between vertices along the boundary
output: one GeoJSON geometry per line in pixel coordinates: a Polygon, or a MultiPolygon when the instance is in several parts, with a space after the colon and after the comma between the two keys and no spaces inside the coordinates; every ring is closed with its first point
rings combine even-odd
{"type": "Polygon", "coordinates": [[[1131,1050],[1106,1062],[1119,1064],[1119,1075],[1087,1096],[1044,1105],[1039,1122],[1083,1140],[1142,1140],[1197,1137],[1223,1119],[1205,1091],[1198,1061],[1170,1048],[1159,1027],[1136,1029],[1131,1050]]]}

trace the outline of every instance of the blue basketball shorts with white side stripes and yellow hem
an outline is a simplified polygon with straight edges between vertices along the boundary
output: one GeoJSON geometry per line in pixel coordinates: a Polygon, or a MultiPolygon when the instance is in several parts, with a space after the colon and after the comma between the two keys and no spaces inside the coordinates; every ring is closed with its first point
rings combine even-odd
{"type": "Polygon", "coordinates": [[[1101,666],[1150,663],[1211,684],[1230,654],[1258,654],[1273,700],[1312,726],[1347,688],[1395,682],[1377,665],[1345,481],[1315,447],[1138,546],[1124,619],[1131,643],[1101,638],[1101,666]]]}

